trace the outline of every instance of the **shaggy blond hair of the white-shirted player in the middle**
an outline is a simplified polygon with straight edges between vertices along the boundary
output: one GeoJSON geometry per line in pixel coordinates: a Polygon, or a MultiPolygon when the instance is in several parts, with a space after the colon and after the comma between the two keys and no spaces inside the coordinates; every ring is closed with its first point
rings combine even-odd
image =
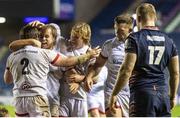
{"type": "Polygon", "coordinates": [[[71,35],[81,36],[85,44],[89,44],[91,39],[91,28],[85,22],[76,23],[71,30],[71,35]]]}

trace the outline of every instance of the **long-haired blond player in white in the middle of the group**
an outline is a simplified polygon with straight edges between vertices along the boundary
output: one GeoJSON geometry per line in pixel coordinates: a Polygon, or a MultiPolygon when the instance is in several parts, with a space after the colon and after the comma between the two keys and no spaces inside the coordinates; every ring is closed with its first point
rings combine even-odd
{"type": "MultiPolygon", "coordinates": [[[[76,23],[72,27],[67,50],[63,54],[66,56],[86,54],[90,49],[90,38],[90,26],[84,22],[76,23]]],[[[82,87],[88,64],[85,63],[64,70],[60,87],[60,116],[88,117],[87,95],[82,87]]]]}

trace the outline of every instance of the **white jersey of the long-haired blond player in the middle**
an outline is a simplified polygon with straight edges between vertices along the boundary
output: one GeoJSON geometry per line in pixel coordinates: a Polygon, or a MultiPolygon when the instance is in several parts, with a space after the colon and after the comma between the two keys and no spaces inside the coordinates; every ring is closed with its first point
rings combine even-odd
{"type": "MultiPolygon", "coordinates": [[[[74,50],[73,52],[66,52],[66,53],[64,53],[64,55],[66,55],[66,56],[78,56],[78,55],[85,54],[88,49],[89,49],[89,46],[86,45],[80,49],[74,50]]],[[[78,68],[81,68],[81,70],[84,71],[83,73],[86,73],[87,65],[88,64],[85,63],[83,65],[80,65],[80,67],[78,66],[78,68]]],[[[68,78],[63,77],[63,80],[61,82],[62,82],[61,86],[60,86],[60,96],[61,97],[74,98],[74,99],[80,99],[80,100],[87,99],[87,94],[81,86],[79,87],[79,90],[75,94],[72,94],[69,90],[68,78]]]]}

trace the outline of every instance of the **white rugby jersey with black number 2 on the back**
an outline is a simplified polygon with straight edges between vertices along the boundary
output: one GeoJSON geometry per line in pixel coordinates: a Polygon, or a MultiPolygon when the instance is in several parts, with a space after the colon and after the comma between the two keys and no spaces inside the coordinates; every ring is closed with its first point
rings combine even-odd
{"type": "Polygon", "coordinates": [[[13,52],[8,57],[6,67],[13,75],[14,97],[46,96],[49,64],[55,63],[59,56],[55,51],[33,46],[13,52]]]}

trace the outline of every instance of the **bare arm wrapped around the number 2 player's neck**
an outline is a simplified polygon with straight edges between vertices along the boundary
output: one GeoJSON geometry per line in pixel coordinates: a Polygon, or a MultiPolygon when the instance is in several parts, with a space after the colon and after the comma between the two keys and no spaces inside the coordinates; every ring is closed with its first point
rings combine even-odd
{"type": "Polygon", "coordinates": [[[41,42],[36,39],[15,40],[9,44],[9,49],[14,52],[23,48],[26,45],[33,45],[35,47],[41,47],[41,42]]]}

